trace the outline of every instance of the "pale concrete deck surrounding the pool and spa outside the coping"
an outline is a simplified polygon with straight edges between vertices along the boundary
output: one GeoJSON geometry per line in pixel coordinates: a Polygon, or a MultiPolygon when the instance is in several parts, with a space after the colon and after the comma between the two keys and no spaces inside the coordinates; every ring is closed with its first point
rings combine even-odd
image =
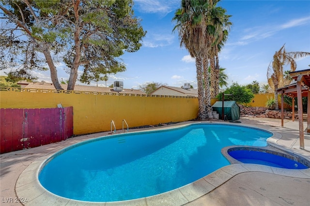
{"type": "MultiPolygon", "coordinates": [[[[280,127],[280,121],[266,118],[242,118],[241,124],[279,132],[282,138],[277,140],[277,145],[291,153],[300,154],[310,160],[310,135],[305,134],[305,149],[299,149],[298,122],[285,121],[284,128],[280,127]]],[[[193,122],[186,122],[193,123],[193,122]]],[[[20,206],[32,205],[28,196],[20,196],[19,191],[27,191],[29,188],[20,186],[31,185],[31,182],[23,182],[19,177],[33,170],[33,162],[44,160],[48,155],[55,153],[61,148],[68,147],[80,141],[98,136],[107,135],[108,132],[96,133],[70,138],[66,141],[20,150],[0,155],[0,205],[20,206]],[[32,163],[32,164],[31,164],[32,163]],[[31,167],[28,167],[31,165],[31,167]],[[19,179],[18,179],[19,178],[19,179]],[[16,182],[18,180],[18,185],[16,182]],[[17,189],[17,194],[16,194],[17,189]],[[18,196],[17,196],[18,195],[18,196]]],[[[242,164],[240,164],[242,165],[242,164]]],[[[223,169],[225,171],[225,168],[223,169]]],[[[227,171],[227,170],[226,170],[227,171]]],[[[300,178],[296,175],[280,173],[257,172],[245,170],[245,172],[229,177],[223,184],[215,186],[214,189],[198,198],[186,198],[188,206],[242,206],[242,205],[265,205],[265,206],[308,206],[310,203],[310,172],[306,172],[300,178]],[[249,172],[251,171],[251,172],[249,172]],[[279,173],[277,173],[279,174],[279,173]],[[293,177],[292,177],[293,176],[293,177]],[[304,178],[306,177],[306,178],[304,178]],[[188,200],[190,199],[190,200],[188,200]]],[[[209,177],[210,178],[210,177],[209,177]]],[[[27,181],[27,180],[25,180],[27,181]]],[[[28,180],[29,181],[29,180],[28,180]]],[[[182,190],[181,190],[182,192],[182,190]]],[[[184,192],[183,192],[184,193],[184,192]]],[[[31,194],[29,194],[31,195],[31,194]]],[[[184,194],[183,194],[184,195],[184,194]]],[[[192,196],[195,196],[193,194],[192,196]]],[[[49,206],[50,201],[40,202],[37,205],[49,206]]],[[[72,202],[56,202],[54,205],[74,205],[72,202]]],[[[92,205],[92,204],[87,204],[92,205]]],[[[109,204],[106,204],[109,205],[109,204]]],[[[135,203],[128,205],[137,205],[135,203]]],[[[152,205],[147,202],[147,205],[152,205]]],[[[183,205],[171,202],[157,202],[154,205],[183,205]]]]}

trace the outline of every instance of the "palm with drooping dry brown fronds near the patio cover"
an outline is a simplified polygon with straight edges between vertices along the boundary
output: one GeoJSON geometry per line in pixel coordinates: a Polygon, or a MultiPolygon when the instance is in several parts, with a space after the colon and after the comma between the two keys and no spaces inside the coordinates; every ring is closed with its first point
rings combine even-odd
{"type": "Polygon", "coordinates": [[[279,51],[276,51],[273,56],[273,60],[270,62],[267,70],[268,84],[275,92],[276,110],[279,110],[277,90],[278,88],[285,86],[283,65],[289,64],[291,68],[290,72],[294,72],[297,67],[294,59],[310,56],[310,52],[286,52],[284,45],[279,49],[279,51]]]}

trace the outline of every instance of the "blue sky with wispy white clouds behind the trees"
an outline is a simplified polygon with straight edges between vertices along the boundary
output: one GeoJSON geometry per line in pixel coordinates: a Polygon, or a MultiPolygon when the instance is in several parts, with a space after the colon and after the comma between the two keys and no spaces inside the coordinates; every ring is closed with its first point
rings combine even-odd
{"type": "MultiPolygon", "coordinates": [[[[147,82],[173,87],[190,83],[197,87],[195,61],[180,47],[178,32],[172,32],[175,23],[171,19],[180,2],[134,0],[135,15],[142,20],[147,34],[139,51],[121,57],[126,71],[110,75],[107,86],[123,81],[124,88],[139,88],[147,82]]],[[[310,1],[222,0],[218,5],[232,15],[233,26],[219,54],[219,64],[226,68],[229,84],[266,84],[268,65],[283,44],[287,52],[310,52],[310,1]]],[[[310,57],[296,59],[296,63],[297,70],[310,69],[310,57]]],[[[68,79],[69,74],[62,67],[58,65],[58,77],[68,79]]],[[[48,72],[37,75],[39,81],[51,82],[48,72]]],[[[98,86],[105,86],[105,82],[98,82],[98,86]]]]}

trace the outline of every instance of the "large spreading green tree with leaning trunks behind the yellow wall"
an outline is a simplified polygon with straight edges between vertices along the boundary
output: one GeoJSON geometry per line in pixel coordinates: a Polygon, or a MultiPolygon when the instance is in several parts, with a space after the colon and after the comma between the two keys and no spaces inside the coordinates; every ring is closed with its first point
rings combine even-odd
{"type": "Polygon", "coordinates": [[[6,19],[0,30],[0,63],[21,64],[23,70],[44,69],[47,63],[57,89],[62,89],[59,61],[68,67],[67,89],[73,90],[80,67],[80,80],[86,83],[100,79],[100,74],[124,71],[119,57],[124,51],[137,51],[145,36],[140,19],[134,17],[133,0],[0,2],[6,19]]]}

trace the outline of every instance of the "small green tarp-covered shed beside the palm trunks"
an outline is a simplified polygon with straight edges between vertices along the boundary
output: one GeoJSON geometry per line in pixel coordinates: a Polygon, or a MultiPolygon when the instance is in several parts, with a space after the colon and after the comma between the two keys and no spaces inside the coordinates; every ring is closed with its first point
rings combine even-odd
{"type": "MultiPolygon", "coordinates": [[[[217,111],[219,118],[222,119],[222,101],[217,101],[212,105],[213,111],[217,111]]],[[[240,118],[240,107],[235,101],[224,101],[224,115],[228,120],[237,120],[240,118]]]]}

